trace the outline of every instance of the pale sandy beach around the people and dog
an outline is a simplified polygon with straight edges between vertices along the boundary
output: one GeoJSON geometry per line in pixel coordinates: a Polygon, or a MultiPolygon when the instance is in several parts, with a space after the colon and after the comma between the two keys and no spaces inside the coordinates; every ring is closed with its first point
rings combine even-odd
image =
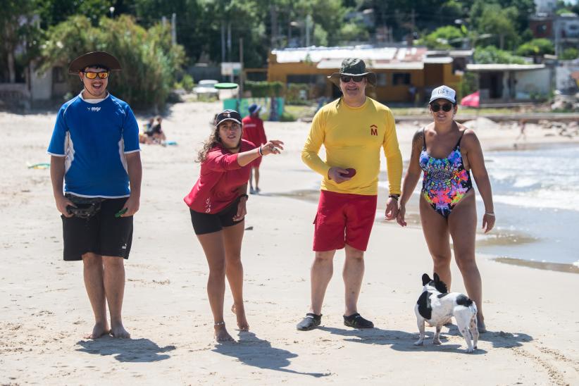
{"type": "MultiPolygon", "coordinates": [[[[425,346],[415,347],[413,307],[421,275],[431,272],[432,261],[420,228],[382,220],[373,228],[359,299],[360,313],[376,328],[354,330],[342,323],[344,254],[338,251],[322,326],[297,331],[309,305],[316,202],[295,192],[315,191],[320,182],[301,163],[309,124],[299,122],[266,122],[268,138],[282,139],[286,150],[263,161],[263,194],[251,195],[247,204],[242,261],[250,332],[235,330],[235,316],[228,312],[225,322],[239,342],[215,344],[205,289],[208,268],[182,198],[197,179],[199,164],[193,160],[219,109],[217,103],[175,104],[163,130],[178,145],[143,145],[141,208],[125,263],[123,321],[132,339],[95,341],[82,338],[92,330],[92,311],[82,263],[62,261],[62,226],[49,170],[28,168],[49,162],[46,147],[56,110],[0,113],[5,157],[0,170],[1,385],[579,384],[577,274],[480,255],[489,332],[481,335],[478,350],[466,354],[456,323],[442,329],[442,346],[432,345],[434,328],[427,328],[425,346]]],[[[406,161],[411,137],[424,123],[397,126],[406,161]]],[[[473,128],[484,149],[512,149],[516,125],[484,118],[477,123],[473,128]]],[[[577,135],[559,131],[528,125],[518,148],[579,142],[577,135]]],[[[385,162],[381,178],[383,170],[385,162]]],[[[452,272],[452,290],[463,292],[454,263],[452,272]]],[[[226,292],[226,309],[231,302],[226,292]]]]}

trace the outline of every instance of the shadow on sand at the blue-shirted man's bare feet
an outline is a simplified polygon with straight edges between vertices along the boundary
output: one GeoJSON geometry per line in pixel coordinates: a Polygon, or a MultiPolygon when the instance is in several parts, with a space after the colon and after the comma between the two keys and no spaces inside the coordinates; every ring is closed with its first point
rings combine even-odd
{"type": "Polygon", "coordinates": [[[170,355],[160,354],[173,351],[175,346],[158,347],[148,339],[116,339],[101,337],[98,340],[80,340],[82,349],[76,351],[88,354],[113,355],[119,362],[157,362],[169,359],[170,355]]]}

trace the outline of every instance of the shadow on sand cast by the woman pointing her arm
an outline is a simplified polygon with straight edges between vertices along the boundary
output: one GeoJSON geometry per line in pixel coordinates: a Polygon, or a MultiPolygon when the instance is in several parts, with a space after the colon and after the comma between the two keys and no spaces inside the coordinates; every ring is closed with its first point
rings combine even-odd
{"type": "Polygon", "coordinates": [[[330,375],[329,373],[302,373],[287,368],[290,366],[290,359],[297,357],[297,354],[271,347],[270,342],[259,339],[253,332],[239,332],[239,338],[239,343],[218,344],[212,351],[237,358],[248,366],[284,373],[310,375],[315,378],[330,375]]]}

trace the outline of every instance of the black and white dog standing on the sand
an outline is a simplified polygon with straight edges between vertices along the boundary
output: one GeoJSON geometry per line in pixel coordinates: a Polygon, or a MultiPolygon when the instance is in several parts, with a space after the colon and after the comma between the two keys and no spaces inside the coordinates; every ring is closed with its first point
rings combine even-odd
{"type": "Polygon", "coordinates": [[[447,323],[452,316],[456,319],[461,335],[466,340],[467,352],[473,352],[478,342],[478,328],[476,323],[476,304],[466,295],[459,292],[448,292],[447,285],[434,274],[431,280],[428,274],[422,275],[422,294],[418,297],[414,313],[416,323],[420,331],[420,339],[414,344],[424,344],[424,322],[430,326],[436,326],[433,344],[440,344],[440,328],[447,323]],[[472,340],[472,342],[471,342],[472,340]]]}

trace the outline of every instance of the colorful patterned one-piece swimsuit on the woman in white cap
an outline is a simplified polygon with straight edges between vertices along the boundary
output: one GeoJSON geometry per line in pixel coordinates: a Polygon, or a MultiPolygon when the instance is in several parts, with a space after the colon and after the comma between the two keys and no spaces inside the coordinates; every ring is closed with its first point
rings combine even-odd
{"type": "Polygon", "coordinates": [[[435,211],[448,218],[454,206],[473,187],[471,173],[462,161],[462,134],[447,158],[432,158],[426,151],[425,134],[423,139],[420,156],[420,166],[424,170],[422,195],[435,211]]]}

